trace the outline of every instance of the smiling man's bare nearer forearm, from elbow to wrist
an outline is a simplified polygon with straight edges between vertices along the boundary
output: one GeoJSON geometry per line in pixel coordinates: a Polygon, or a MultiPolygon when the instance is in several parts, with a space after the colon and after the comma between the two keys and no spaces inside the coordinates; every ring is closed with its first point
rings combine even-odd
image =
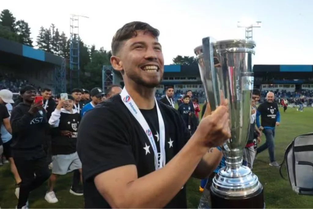
{"type": "MultiPolygon", "coordinates": [[[[194,137],[194,136],[193,136],[194,137]]],[[[193,137],[162,169],[131,182],[121,208],[162,208],[182,189],[207,148],[199,148],[193,137]]]]}

